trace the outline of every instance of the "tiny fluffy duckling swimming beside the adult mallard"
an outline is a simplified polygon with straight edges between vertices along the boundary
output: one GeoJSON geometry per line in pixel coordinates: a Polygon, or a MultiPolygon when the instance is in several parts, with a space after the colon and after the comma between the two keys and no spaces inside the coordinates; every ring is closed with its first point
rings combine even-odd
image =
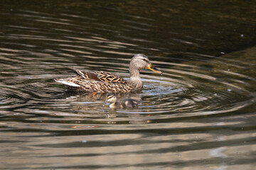
{"type": "Polygon", "coordinates": [[[142,100],[127,98],[117,101],[115,94],[108,94],[104,104],[106,103],[110,103],[110,108],[137,108],[142,103],[142,100]]]}

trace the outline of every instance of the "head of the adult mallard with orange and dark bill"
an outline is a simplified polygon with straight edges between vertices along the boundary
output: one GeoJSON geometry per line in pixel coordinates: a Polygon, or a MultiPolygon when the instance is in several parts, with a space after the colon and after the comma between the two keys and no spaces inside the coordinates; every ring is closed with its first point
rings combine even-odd
{"type": "Polygon", "coordinates": [[[134,55],[134,57],[132,57],[130,69],[149,69],[155,73],[161,74],[159,69],[152,66],[149,58],[142,54],[134,55]]]}

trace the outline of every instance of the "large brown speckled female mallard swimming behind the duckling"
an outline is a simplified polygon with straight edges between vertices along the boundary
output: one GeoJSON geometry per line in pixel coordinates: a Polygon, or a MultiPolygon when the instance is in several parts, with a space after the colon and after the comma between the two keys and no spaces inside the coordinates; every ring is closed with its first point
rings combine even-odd
{"type": "Polygon", "coordinates": [[[146,55],[134,55],[129,64],[129,81],[122,79],[108,72],[92,72],[74,69],[76,77],[67,79],[55,79],[55,81],[68,85],[68,89],[75,91],[97,92],[97,93],[127,93],[142,89],[142,79],[139,76],[139,69],[150,69],[161,74],[159,69],[151,66],[151,62],[146,55]]]}

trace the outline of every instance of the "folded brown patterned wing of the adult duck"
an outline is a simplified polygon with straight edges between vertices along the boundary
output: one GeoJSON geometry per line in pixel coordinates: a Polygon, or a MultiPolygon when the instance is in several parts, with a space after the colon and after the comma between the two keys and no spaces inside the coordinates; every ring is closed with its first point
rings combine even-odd
{"type": "MultiPolygon", "coordinates": [[[[70,68],[70,67],[69,67],[70,68]]],[[[73,69],[73,68],[70,68],[73,69]]],[[[80,69],[73,69],[82,79],[87,81],[102,81],[105,83],[112,84],[127,84],[128,81],[123,79],[122,77],[118,77],[117,75],[111,74],[109,72],[93,72],[89,70],[82,71],[80,69]]]]}

